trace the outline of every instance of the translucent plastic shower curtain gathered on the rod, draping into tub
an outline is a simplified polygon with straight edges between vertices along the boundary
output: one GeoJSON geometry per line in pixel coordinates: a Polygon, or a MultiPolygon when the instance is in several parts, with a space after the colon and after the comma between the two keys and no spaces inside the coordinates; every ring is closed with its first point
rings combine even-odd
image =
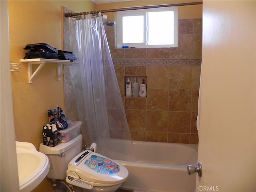
{"type": "MultiPolygon", "coordinates": [[[[122,98],[110,55],[101,13],[70,19],[76,29],[84,114],[90,142],[97,153],[136,161],[122,98]]],[[[77,48],[76,48],[77,49],[77,48]]]]}

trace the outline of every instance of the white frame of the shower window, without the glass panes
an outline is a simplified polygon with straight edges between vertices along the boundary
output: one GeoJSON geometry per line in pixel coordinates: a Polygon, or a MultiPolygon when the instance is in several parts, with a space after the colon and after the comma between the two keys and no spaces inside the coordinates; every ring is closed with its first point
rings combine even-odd
{"type": "Polygon", "coordinates": [[[162,7],[162,8],[152,8],[152,9],[142,9],[142,10],[128,10],[120,11],[115,13],[116,25],[115,25],[115,34],[116,34],[116,48],[122,48],[122,46],[127,45],[129,47],[136,48],[169,48],[169,47],[178,47],[178,7],[162,7]],[[147,13],[148,12],[164,12],[164,11],[173,11],[174,12],[174,44],[168,45],[148,45],[147,44],[147,13]],[[143,43],[122,43],[122,17],[124,16],[144,16],[144,42],[143,43]]]}

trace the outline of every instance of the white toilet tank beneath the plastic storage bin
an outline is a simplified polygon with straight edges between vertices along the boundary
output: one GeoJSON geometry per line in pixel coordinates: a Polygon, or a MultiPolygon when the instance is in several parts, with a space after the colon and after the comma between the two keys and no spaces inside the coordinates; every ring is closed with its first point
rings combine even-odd
{"type": "Polygon", "coordinates": [[[47,177],[54,180],[66,178],[68,163],[81,152],[82,135],[78,135],[66,143],[58,143],[55,147],[40,144],[39,151],[46,154],[50,162],[47,177]]]}

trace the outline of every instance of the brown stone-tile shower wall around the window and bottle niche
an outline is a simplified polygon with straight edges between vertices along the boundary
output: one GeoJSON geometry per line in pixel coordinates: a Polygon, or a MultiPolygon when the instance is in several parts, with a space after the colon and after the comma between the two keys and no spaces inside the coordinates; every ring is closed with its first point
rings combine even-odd
{"type": "MultiPolygon", "coordinates": [[[[198,144],[202,19],[183,19],[178,25],[178,48],[128,49],[115,49],[114,26],[106,26],[132,140],[198,144]],[[125,76],[146,76],[147,97],[125,97],[125,76]]],[[[66,30],[64,26],[64,34],[66,30]]],[[[68,48],[70,42],[66,44],[68,48]]],[[[65,74],[66,114],[71,120],[77,120],[80,111],[77,68],[72,66],[65,74]]]]}

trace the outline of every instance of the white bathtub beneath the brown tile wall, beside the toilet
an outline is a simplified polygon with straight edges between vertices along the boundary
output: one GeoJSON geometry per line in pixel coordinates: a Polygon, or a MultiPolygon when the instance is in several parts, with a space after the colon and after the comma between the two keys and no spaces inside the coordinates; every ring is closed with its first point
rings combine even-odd
{"type": "Polygon", "coordinates": [[[194,144],[134,141],[138,162],[115,160],[129,171],[120,188],[154,192],[195,191],[196,174],[188,175],[187,165],[197,164],[194,144]]]}

